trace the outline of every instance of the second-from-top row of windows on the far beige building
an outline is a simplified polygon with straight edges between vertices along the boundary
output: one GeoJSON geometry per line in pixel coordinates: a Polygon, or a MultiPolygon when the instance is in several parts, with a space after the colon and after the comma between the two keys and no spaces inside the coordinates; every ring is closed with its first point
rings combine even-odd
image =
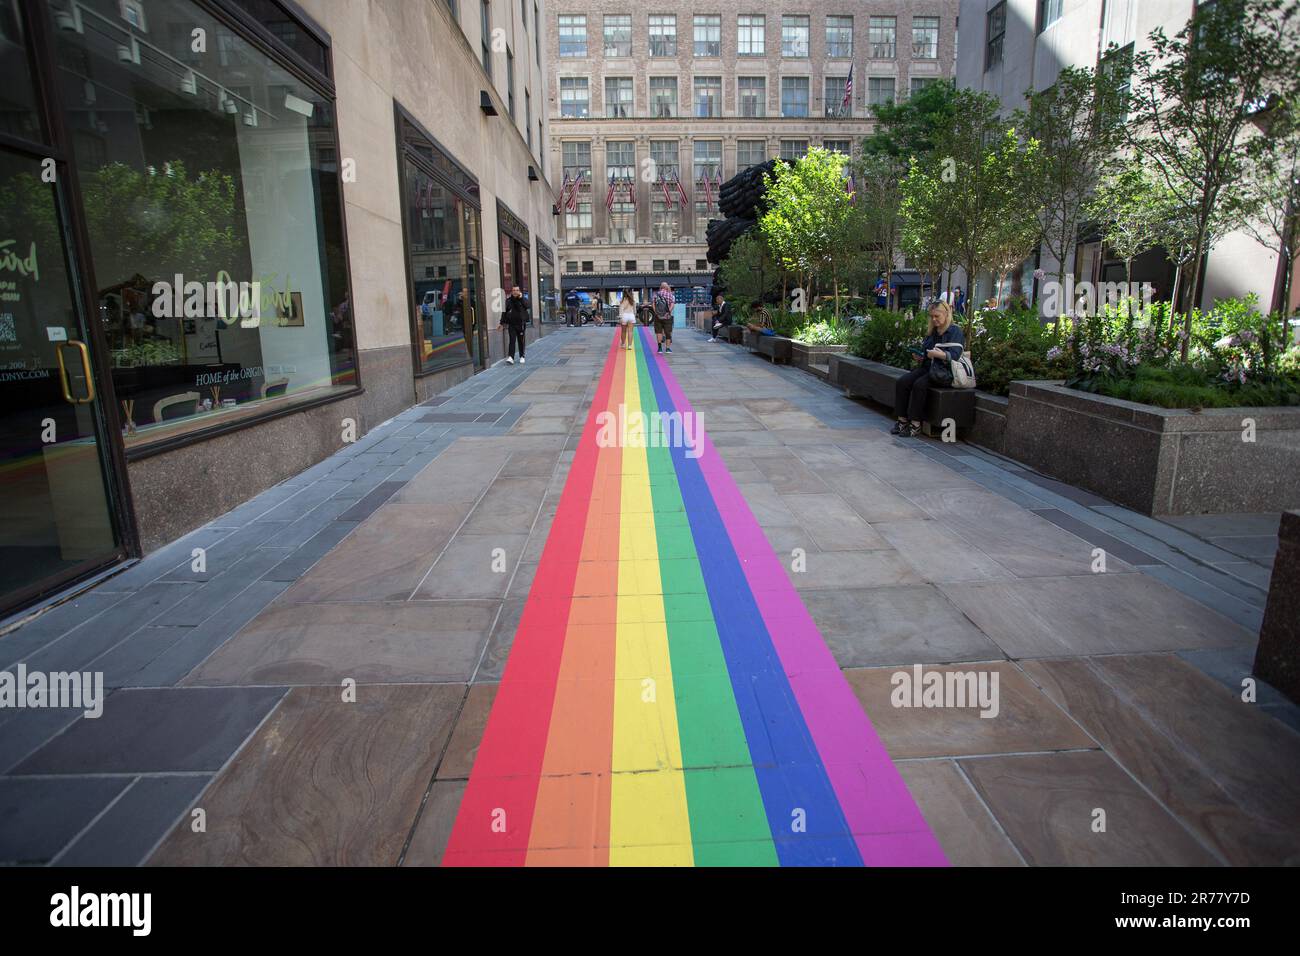
{"type": "MultiPolygon", "coordinates": [[[[853,103],[848,90],[849,78],[824,77],[822,104],[826,116],[852,116],[853,103]]],[[[913,77],[911,92],[915,94],[936,77],[913,77]]],[[[634,81],[632,77],[604,78],[604,117],[625,120],[636,116],[634,81]]],[[[588,118],[592,114],[592,88],[588,77],[560,77],[560,116],[588,118]]],[[[811,116],[811,77],[781,77],[780,116],[811,116]]],[[[655,118],[680,116],[677,101],[677,77],[649,77],[647,103],[649,116],[655,118]]],[[[867,77],[867,105],[892,103],[897,96],[894,77],[867,77]]],[[[768,112],[767,77],[736,78],[736,116],[763,117],[768,112]]],[[[689,116],[715,118],[723,114],[723,78],[694,77],[690,90],[689,116]]]]}

